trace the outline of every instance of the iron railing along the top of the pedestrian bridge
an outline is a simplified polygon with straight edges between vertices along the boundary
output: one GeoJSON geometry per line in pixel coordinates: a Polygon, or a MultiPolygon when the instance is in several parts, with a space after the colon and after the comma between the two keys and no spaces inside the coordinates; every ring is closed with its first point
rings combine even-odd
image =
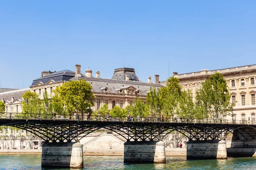
{"type": "Polygon", "coordinates": [[[120,116],[84,116],[54,115],[40,113],[0,113],[0,119],[33,119],[33,120],[79,120],[79,121],[111,121],[111,122],[163,122],[163,123],[201,123],[201,124],[235,124],[256,125],[255,120],[225,120],[225,119],[188,119],[164,117],[120,117],[120,116]]]}

